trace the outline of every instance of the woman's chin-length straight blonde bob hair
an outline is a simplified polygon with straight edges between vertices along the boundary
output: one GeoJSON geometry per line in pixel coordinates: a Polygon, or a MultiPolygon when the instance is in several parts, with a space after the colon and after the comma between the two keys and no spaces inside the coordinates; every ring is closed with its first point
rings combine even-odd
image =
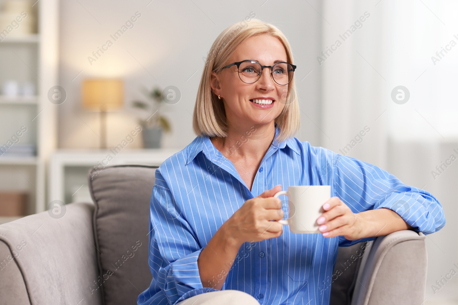
{"type": "MultiPolygon", "coordinates": [[[[226,28],[213,42],[202,72],[192,120],[192,128],[197,135],[222,138],[227,136],[228,125],[224,103],[212,91],[210,86],[211,75],[212,72],[221,73],[223,67],[230,64],[227,60],[234,54],[236,48],[246,39],[258,35],[278,38],[285,48],[287,61],[294,64],[288,39],[277,27],[267,22],[252,19],[248,22],[234,23],[226,28]]],[[[300,112],[294,77],[288,84],[285,106],[275,118],[275,123],[280,129],[277,136],[278,142],[292,137],[299,130],[300,112]]]]}

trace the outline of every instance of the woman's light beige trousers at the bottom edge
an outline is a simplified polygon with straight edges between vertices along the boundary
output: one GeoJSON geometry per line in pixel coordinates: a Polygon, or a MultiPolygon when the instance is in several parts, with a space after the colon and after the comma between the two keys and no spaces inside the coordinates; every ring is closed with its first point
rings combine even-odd
{"type": "Polygon", "coordinates": [[[197,294],[176,305],[259,305],[258,300],[239,290],[221,290],[197,294]]]}

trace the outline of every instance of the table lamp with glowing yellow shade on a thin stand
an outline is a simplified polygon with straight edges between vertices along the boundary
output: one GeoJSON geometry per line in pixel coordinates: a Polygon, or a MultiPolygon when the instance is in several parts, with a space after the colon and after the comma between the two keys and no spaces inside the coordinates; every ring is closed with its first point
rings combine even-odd
{"type": "Polygon", "coordinates": [[[87,79],[82,84],[82,104],[100,112],[100,148],[107,148],[107,111],[122,107],[124,86],[120,79],[87,79]]]}

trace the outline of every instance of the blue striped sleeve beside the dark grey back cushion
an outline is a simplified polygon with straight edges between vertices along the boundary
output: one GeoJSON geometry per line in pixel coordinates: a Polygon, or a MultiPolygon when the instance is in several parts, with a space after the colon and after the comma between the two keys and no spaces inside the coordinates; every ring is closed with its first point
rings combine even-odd
{"type": "Polygon", "coordinates": [[[166,298],[172,305],[196,294],[216,291],[202,286],[197,266],[202,247],[170,190],[160,183],[157,179],[150,203],[148,263],[153,280],[138,296],[138,304],[157,304],[160,300],[155,298],[166,298]],[[158,294],[161,290],[163,294],[158,294]]]}

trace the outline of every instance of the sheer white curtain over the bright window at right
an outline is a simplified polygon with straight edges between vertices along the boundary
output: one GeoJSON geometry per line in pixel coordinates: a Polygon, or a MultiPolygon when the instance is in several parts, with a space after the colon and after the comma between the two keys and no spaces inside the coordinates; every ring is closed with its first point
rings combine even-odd
{"type": "Polygon", "coordinates": [[[426,238],[424,304],[458,304],[458,275],[442,280],[458,273],[457,14],[454,1],[325,0],[323,53],[316,54],[322,146],[380,166],[442,203],[447,224],[426,238]]]}

